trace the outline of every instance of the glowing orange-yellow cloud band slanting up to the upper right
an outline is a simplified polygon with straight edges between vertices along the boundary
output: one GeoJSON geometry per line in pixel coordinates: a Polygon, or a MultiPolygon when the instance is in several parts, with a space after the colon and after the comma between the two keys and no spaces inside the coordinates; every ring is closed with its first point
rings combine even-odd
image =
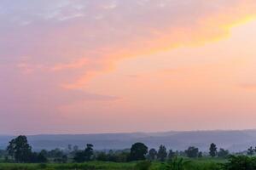
{"type": "MultiPolygon", "coordinates": [[[[148,37],[138,37],[130,42],[106,44],[102,51],[101,69],[86,71],[76,82],[63,85],[65,88],[84,88],[91,78],[111,71],[119,59],[157,54],[178,47],[195,47],[216,42],[230,36],[230,29],[256,17],[256,3],[252,0],[237,3],[207,14],[195,22],[195,26],[166,26],[157,30],[148,28],[148,37]]],[[[145,28],[147,29],[147,28],[145,28]]]]}

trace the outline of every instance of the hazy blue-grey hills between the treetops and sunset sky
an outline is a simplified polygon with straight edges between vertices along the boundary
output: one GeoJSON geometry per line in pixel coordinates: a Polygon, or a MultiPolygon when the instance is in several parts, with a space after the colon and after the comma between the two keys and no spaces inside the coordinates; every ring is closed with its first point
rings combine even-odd
{"type": "MultiPolygon", "coordinates": [[[[256,130],[230,131],[187,131],[165,133],[96,133],[96,134],[39,134],[27,136],[34,150],[65,149],[67,144],[78,145],[84,149],[85,144],[94,144],[96,150],[119,150],[131,147],[131,144],[143,142],[148,148],[158,148],[165,144],[167,149],[185,150],[196,146],[207,151],[212,142],[218,148],[231,151],[247,150],[256,145],[256,130]]],[[[4,149],[14,136],[0,135],[0,149],[4,149]]]]}

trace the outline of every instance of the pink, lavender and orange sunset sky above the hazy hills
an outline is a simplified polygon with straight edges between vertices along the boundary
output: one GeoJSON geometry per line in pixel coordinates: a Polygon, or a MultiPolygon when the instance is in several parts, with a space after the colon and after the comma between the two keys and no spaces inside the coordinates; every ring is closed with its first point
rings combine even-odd
{"type": "Polygon", "coordinates": [[[0,0],[0,133],[256,128],[255,0],[0,0]]]}

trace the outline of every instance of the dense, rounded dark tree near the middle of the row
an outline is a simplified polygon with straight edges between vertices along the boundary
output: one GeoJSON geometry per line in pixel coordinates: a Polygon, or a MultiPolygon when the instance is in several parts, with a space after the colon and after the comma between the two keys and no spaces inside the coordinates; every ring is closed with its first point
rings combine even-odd
{"type": "Polygon", "coordinates": [[[144,160],[148,153],[148,147],[143,143],[135,143],[131,146],[130,160],[139,161],[144,160]]]}

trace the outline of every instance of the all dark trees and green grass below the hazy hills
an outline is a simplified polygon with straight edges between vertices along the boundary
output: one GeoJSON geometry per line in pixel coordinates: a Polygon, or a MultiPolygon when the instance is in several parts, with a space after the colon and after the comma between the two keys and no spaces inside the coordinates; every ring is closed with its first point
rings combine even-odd
{"type": "Polygon", "coordinates": [[[159,150],[148,151],[143,143],[132,144],[128,150],[99,151],[93,144],[79,150],[68,144],[66,150],[34,152],[26,136],[18,136],[6,150],[0,150],[0,170],[256,170],[255,149],[240,154],[231,156],[229,150],[217,150],[213,143],[208,154],[194,146],[167,152],[163,144],[159,150]]]}

